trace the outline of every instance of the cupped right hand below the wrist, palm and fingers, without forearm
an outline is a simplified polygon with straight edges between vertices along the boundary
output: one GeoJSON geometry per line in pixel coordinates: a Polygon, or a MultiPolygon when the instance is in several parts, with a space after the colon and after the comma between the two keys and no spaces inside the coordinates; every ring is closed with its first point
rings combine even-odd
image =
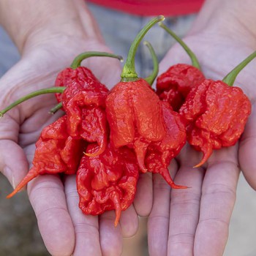
{"type": "MultiPolygon", "coordinates": [[[[206,78],[222,80],[255,51],[246,37],[228,37],[222,32],[214,28],[192,31],[184,39],[199,59],[206,78]]],[[[177,63],[191,64],[179,45],[171,48],[162,60],[159,74],[177,63]]],[[[241,140],[235,146],[214,151],[206,165],[196,168],[193,166],[200,162],[202,154],[185,146],[171,163],[170,173],[176,184],[188,189],[171,190],[161,177],[154,176],[154,203],[148,218],[150,255],[223,255],[240,170],[256,189],[254,67],[252,61],[235,82],[252,102],[252,114],[241,140]]]]}

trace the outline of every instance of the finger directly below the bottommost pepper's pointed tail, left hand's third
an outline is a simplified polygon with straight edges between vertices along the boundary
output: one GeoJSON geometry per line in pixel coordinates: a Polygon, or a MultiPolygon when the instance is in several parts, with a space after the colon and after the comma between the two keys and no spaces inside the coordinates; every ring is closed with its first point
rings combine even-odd
{"type": "Polygon", "coordinates": [[[121,227],[114,226],[115,211],[106,211],[99,217],[99,239],[103,256],[120,256],[123,249],[121,227]]]}

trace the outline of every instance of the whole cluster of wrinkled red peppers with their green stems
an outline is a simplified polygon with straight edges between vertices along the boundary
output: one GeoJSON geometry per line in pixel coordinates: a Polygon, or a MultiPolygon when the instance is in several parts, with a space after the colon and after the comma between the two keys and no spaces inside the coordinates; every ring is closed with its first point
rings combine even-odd
{"type": "Polygon", "coordinates": [[[238,72],[255,58],[252,53],[222,81],[206,79],[192,51],[162,23],[192,59],[192,65],[176,64],[157,78],[158,63],[151,45],[154,72],[138,78],[135,53],[151,26],[164,20],[152,19],[132,42],[121,81],[108,88],[91,70],[81,67],[89,56],[110,53],[82,53],[71,67],[56,78],[55,87],[35,91],[12,103],[8,110],[39,94],[56,93],[64,116],[42,130],[29,170],[12,197],[31,179],[44,173],[76,175],[84,214],[98,215],[115,210],[115,225],[133,202],[140,173],[159,173],[173,189],[186,189],[170,177],[168,166],[188,142],[203,152],[203,165],[214,149],[232,146],[244,131],[251,111],[249,99],[233,86],[238,72]]]}

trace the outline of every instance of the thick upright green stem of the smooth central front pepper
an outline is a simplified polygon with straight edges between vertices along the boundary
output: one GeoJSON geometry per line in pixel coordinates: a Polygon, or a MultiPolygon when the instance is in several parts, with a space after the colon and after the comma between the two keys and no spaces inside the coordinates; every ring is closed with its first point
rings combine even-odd
{"type": "Polygon", "coordinates": [[[151,29],[154,24],[162,20],[165,20],[165,17],[162,15],[159,15],[157,18],[152,19],[148,22],[146,26],[143,27],[143,29],[140,30],[138,35],[135,37],[131,47],[129,48],[127,61],[125,62],[123,71],[121,72],[122,82],[138,80],[138,75],[135,72],[135,53],[138,49],[138,46],[140,45],[140,41],[143,39],[148,30],[151,29]]]}

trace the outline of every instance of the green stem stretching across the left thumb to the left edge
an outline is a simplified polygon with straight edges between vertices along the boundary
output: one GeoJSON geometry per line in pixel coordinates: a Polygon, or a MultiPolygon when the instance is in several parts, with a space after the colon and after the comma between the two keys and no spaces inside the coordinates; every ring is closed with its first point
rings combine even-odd
{"type": "Polygon", "coordinates": [[[16,100],[15,102],[12,102],[12,104],[7,106],[7,108],[4,108],[3,110],[1,110],[0,111],[0,117],[4,116],[4,114],[7,113],[7,111],[16,107],[20,103],[25,102],[27,99],[34,98],[34,97],[36,97],[38,95],[41,95],[41,94],[62,93],[64,91],[64,89],[66,89],[66,87],[59,86],[59,87],[51,87],[51,88],[48,88],[48,89],[33,91],[33,92],[31,92],[31,94],[27,94],[26,96],[21,97],[20,99],[16,100]]]}

